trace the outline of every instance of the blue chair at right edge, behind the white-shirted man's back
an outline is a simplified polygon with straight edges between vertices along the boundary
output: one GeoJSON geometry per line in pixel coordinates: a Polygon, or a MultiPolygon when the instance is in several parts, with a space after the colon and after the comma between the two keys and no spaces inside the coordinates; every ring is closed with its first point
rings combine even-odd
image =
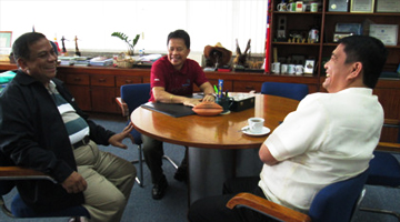
{"type": "MultiPolygon", "coordinates": [[[[383,127],[398,128],[397,143],[379,142],[377,150],[373,151],[374,158],[370,161],[370,174],[366,184],[383,185],[390,188],[400,186],[400,163],[391,152],[400,152],[400,124],[397,120],[384,120],[383,127]]],[[[394,211],[383,209],[360,208],[361,211],[390,214],[400,222],[400,214],[394,211]]]]}

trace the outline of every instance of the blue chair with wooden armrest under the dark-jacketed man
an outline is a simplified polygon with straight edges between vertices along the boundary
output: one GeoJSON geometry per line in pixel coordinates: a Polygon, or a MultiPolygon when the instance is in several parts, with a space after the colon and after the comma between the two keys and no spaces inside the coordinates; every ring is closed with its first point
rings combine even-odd
{"type": "MultiPolygon", "coordinates": [[[[0,154],[1,155],[1,154],[0,154]]],[[[1,161],[1,157],[0,157],[1,161]]],[[[3,195],[10,193],[14,188],[16,180],[49,180],[56,183],[56,180],[50,175],[43,174],[39,171],[20,167],[0,167],[0,206],[2,212],[10,218],[78,218],[86,216],[90,219],[90,214],[82,205],[67,208],[60,211],[51,212],[34,212],[21,199],[20,194],[13,196],[11,201],[11,209],[6,205],[3,195]]]]}

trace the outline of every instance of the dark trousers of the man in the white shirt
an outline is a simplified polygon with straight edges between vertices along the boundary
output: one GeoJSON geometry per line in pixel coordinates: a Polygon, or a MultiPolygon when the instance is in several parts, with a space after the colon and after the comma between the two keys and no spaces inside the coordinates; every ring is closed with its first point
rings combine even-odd
{"type": "Polygon", "coordinates": [[[249,192],[266,198],[258,186],[259,176],[236,178],[223,184],[222,195],[209,196],[196,201],[189,209],[190,222],[272,222],[276,221],[246,208],[227,208],[228,201],[237,193],[249,192]]]}

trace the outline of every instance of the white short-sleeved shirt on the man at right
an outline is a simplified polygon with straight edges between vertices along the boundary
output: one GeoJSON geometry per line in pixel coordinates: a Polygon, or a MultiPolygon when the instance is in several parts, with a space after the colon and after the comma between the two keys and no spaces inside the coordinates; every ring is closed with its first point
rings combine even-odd
{"type": "Polygon", "coordinates": [[[271,201],[307,212],[322,188],[368,168],[382,124],[371,89],[307,95],[264,141],[281,162],[263,165],[259,186],[271,201]]]}

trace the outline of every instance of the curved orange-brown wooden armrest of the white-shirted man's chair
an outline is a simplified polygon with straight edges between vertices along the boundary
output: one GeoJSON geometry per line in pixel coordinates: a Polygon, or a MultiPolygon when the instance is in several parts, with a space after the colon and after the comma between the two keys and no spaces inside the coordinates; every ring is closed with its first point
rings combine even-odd
{"type": "Polygon", "coordinates": [[[271,202],[267,199],[253,195],[251,193],[239,193],[228,201],[227,206],[233,209],[234,206],[244,206],[256,210],[260,213],[276,218],[281,221],[292,222],[310,222],[311,219],[307,214],[291,210],[278,203],[271,202]]]}

